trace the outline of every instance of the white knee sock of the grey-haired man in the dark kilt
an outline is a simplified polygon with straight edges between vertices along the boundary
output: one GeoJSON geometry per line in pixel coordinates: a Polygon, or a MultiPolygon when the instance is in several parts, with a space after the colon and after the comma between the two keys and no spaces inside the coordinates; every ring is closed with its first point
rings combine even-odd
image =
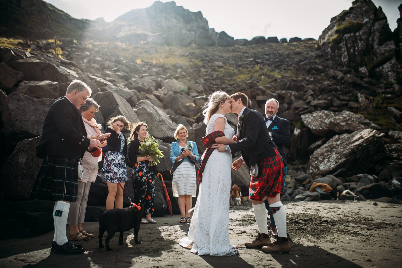
{"type": "Polygon", "coordinates": [[[57,245],[63,245],[68,242],[66,236],[66,224],[68,218],[68,210],[70,203],[57,201],[55,205],[55,212],[53,213],[54,221],[54,234],[57,245]]]}

